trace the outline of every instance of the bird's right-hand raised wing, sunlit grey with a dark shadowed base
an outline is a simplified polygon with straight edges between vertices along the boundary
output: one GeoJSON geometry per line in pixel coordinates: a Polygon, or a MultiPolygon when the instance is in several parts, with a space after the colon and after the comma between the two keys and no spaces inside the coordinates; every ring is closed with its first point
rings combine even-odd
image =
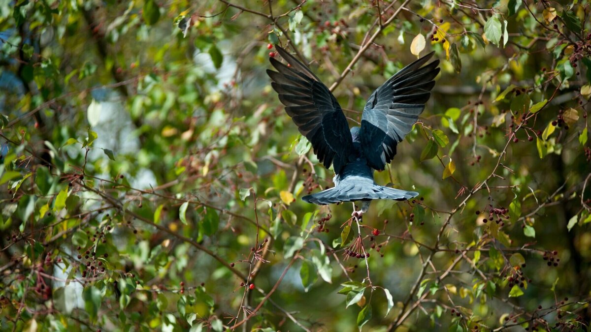
{"type": "Polygon", "coordinates": [[[384,170],[396,146],[413,128],[435,85],[439,60],[423,66],[433,52],[404,67],[369,97],[361,116],[361,149],[368,164],[384,170]]]}

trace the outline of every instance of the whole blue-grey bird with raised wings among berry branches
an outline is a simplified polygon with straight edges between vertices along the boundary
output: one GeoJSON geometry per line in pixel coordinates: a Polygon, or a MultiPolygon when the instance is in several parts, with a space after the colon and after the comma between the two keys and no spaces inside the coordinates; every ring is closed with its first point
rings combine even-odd
{"type": "Polygon", "coordinates": [[[426,64],[433,52],[375,89],[363,109],[361,127],[349,129],[345,113],[328,87],[284,48],[275,48],[288,64],[269,58],[277,70],[267,70],[271,86],[300,133],[310,141],[318,160],[327,169],[331,164],[335,169],[335,187],[302,199],[319,205],[353,202],[352,217],[359,219],[372,200],[417,197],[415,191],[376,184],[374,171],[384,170],[392,161],[398,143],[411,131],[431,96],[433,79],[439,73],[439,60],[426,64]],[[362,201],[359,211],[356,201],[362,201]]]}

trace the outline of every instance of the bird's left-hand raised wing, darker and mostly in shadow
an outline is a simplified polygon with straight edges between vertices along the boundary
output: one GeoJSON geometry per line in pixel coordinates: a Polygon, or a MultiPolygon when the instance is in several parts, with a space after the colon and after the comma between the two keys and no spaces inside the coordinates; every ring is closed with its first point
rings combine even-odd
{"type": "Polygon", "coordinates": [[[349,123],[335,96],[303,63],[283,48],[275,46],[289,66],[269,58],[278,71],[267,70],[271,86],[279,94],[285,111],[300,133],[310,141],[324,167],[335,165],[340,174],[353,151],[349,123]]]}

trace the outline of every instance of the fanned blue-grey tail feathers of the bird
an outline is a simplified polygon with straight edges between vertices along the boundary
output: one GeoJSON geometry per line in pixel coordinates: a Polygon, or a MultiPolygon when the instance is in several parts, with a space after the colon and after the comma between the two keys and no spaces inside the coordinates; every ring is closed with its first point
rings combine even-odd
{"type": "Polygon", "coordinates": [[[404,201],[417,196],[418,193],[416,191],[400,190],[384,187],[383,185],[341,184],[337,187],[320,191],[320,193],[304,196],[302,200],[308,203],[325,205],[344,201],[384,199],[404,201]]]}

